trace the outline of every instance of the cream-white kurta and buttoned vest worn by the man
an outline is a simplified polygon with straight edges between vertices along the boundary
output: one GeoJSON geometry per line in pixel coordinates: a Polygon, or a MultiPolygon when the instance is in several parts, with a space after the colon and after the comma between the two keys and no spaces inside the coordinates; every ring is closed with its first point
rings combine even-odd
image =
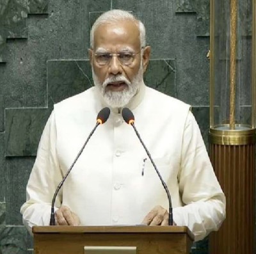
{"type": "MultiPolygon", "coordinates": [[[[22,205],[24,225],[49,225],[54,191],[104,107],[96,88],[63,100],[45,125],[22,205]]],[[[203,239],[225,218],[225,196],[189,106],[143,86],[130,108],[172,196],[173,220],[203,239]]],[[[81,225],[134,225],[168,199],[131,125],[111,111],[77,160],[56,199],[81,225]],[[144,175],[141,172],[144,171],[144,175]]]]}

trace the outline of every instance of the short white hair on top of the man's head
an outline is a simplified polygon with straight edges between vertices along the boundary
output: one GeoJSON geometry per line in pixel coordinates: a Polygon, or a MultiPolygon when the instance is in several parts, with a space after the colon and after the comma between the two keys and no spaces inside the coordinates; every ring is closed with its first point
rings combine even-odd
{"type": "Polygon", "coordinates": [[[146,29],[144,24],[136,19],[134,15],[131,13],[124,11],[124,10],[110,10],[108,12],[104,12],[100,17],[94,22],[91,32],[90,32],[90,47],[93,49],[93,42],[94,42],[94,33],[95,30],[101,24],[113,24],[117,23],[120,20],[132,20],[134,22],[138,22],[139,29],[140,29],[140,45],[141,47],[146,46],[146,29]]]}

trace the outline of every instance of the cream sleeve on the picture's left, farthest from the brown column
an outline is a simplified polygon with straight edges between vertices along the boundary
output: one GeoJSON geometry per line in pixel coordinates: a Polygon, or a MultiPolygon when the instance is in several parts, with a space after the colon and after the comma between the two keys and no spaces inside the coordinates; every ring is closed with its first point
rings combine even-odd
{"type": "MultiPolygon", "coordinates": [[[[49,225],[52,196],[63,175],[56,153],[56,124],[54,111],[49,117],[41,136],[36,161],[26,188],[26,202],[22,205],[23,223],[31,232],[32,226],[49,225]]],[[[56,198],[56,207],[61,205],[61,191],[56,198]]]]}

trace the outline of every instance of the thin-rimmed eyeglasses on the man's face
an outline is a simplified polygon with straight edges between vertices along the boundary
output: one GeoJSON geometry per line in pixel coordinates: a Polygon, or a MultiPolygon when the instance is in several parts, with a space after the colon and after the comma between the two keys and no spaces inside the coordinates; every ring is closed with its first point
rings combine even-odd
{"type": "Polygon", "coordinates": [[[119,53],[109,53],[109,52],[99,52],[95,53],[95,60],[99,65],[108,65],[110,61],[112,60],[113,56],[116,56],[120,63],[122,65],[131,65],[131,63],[134,61],[134,58],[136,54],[139,54],[140,52],[119,52],[119,53]]]}

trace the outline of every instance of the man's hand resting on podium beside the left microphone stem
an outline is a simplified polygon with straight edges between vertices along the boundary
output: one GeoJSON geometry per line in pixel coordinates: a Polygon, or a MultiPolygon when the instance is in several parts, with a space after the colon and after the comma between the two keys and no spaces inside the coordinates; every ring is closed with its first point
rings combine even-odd
{"type": "Polygon", "coordinates": [[[71,225],[78,226],[80,220],[78,216],[65,205],[61,206],[60,209],[55,212],[55,225],[71,225]]]}

